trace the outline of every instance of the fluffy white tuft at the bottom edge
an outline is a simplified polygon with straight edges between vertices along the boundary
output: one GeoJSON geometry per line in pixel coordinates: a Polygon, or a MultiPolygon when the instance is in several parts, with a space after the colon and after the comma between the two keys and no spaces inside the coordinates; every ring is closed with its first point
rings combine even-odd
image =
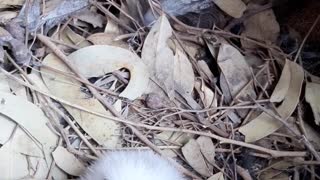
{"type": "Polygon", "coordinates": [[[152,151],[114,151],[97,160],[80,180],[183,180],[167,160],[152,151]]]}

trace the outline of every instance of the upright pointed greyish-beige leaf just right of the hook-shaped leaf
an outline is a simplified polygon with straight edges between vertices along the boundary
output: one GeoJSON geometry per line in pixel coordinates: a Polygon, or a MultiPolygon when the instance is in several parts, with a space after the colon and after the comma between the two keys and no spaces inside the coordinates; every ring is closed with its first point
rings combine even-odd
{"type": "Polygon", "coordinates": [[[167,44],[171,35],[170,23],[163,15],[151,28],[141,55],[151,76],[157,80],[170,99],[174,97],[174,55],[167,44]]]}

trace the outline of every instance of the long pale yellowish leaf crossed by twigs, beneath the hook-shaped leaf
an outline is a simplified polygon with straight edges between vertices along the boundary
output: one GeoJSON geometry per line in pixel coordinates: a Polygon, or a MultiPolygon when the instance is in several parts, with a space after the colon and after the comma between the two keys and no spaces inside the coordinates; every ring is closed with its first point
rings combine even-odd
{"type": "MultiPolygon", "coordinates": [[[[43,64],[65,73],[69,73],[71,71],[58,57],[52,54],[45,57],[43,64]]],[[[88,110],[105,115],[111,115],[105,110],[98,100],[93,98],[84,98],[85,94],[80,91],[81,83],[77,80],[63,76],[60,73],[50,71],[45,67],[41,68],[41,75],[46,86],[53,95],[73,104],[82,106],[88,110]]],[[[106,147],[114,147],[117,144],[118,137],[114,136],[114,134],[118,131],[118,124],[69,106],[65,106],[65,108],[79,123],[83,130],[87,132],[97,143],[105,145],[106,147]]]]}

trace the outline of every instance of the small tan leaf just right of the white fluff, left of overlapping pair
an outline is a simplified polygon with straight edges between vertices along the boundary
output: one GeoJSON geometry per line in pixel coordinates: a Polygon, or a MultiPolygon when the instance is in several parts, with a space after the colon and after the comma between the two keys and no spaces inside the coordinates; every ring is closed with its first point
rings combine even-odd
{"type": "Polygon", "coordinates": [[[211,171],[201,154],[199,144],[196,140],[190,139],[189,142],[182,147],[183,156],[186,158],[189,165],[199,174],[205,177],[211,176],[211,171]]]}

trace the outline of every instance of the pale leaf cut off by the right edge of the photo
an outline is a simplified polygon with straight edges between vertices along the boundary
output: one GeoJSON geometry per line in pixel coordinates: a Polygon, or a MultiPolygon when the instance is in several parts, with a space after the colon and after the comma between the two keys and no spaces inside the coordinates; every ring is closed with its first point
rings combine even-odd
{"type": "Polygon", "coordinates": [[[314,116],[314,121],[320,125],[320,84],[308,82],[305,97],[310,104],[314,116]]]}

